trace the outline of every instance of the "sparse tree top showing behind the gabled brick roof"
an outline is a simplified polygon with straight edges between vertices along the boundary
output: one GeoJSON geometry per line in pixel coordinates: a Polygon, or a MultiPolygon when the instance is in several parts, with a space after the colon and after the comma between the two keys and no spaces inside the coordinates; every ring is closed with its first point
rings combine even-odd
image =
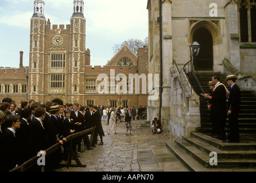
{"type": "MultiPolygon", "coordinates": [[[[119,44],[115,44],[113,46],[114,54],[116,54],[122,47],[125,45],[125,41],[119,44]]],[[[138,55],[138,48],[143,46],[148,46],[148,37],[146,37],[143,41],[141,39],[128,39],[126,41],[126,45],[133,51],[134,54],[138,55]]]]}

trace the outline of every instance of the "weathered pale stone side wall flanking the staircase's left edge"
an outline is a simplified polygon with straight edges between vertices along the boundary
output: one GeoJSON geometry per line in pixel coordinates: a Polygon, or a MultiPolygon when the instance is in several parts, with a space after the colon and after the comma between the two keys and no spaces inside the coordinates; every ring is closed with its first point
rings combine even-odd
{"type": "Polygon", "coordinates": [[[200,98],[191,88],[184,71],[171,70],[169,132],[174,137],[190,136],[200,126],[200,98]]]}

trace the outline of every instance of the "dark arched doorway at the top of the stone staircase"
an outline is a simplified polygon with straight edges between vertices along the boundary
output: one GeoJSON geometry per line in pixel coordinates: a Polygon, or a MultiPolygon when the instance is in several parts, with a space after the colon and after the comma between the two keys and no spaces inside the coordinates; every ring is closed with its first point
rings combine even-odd
{"type": "Polygon", "coordinates": [[[213,70],[214,47],[211,32],[204,27],[200,27],[193,34],[194,41],[201,45],[199,54],[197,55],[195,69],[198,71],[213,70]]]}

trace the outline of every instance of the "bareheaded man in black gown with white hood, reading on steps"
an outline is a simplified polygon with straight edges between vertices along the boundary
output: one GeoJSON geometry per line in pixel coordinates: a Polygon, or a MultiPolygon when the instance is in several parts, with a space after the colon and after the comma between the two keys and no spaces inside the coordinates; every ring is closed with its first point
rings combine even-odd
{"type": "Polygon", "coordinates": [[[227,118],[227,95],[229,94],[226,86],[220,83],[220,78],[217,75],[212,76],[212,83],[215,88],[212,92],[212,96],[205,94],[209,100],[211,100],[211,110],[213,121],[216,124],[216,136],[218,140],[225,140],[225,125],[227,118]]]}

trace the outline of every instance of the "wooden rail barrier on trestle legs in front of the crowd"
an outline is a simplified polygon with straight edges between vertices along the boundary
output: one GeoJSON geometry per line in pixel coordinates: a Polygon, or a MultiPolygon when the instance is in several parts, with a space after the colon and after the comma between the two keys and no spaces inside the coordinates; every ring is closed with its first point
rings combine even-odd
{"type": "MultiPolygon", "coordinates": [[[[91,137],[90,137],[90,145],[92,145],[92,141],[93,141],[93,137],[94,137],[94,128],[90,128],[87,130],[83,130],[82,132],[78,132],[75,134],[71,134],[69,135],[67,138],[67,141],[64,142],[64,144],[68,144],[68,161],[67,161],[67,168],[69,167],[86,167],[86,165],[82,165],[82,163],[79,161],[79,159],[77,158],[75,152],[73,152],[72,149],[72,140],[73,138],[79,137],[79,136],[83,136],[86,133],[91,132],[91,137]],[[75,160],[76,165],[71,164],[71,157],[73,158],[73,160],[75,160]]],[[[53,146],[51,146],[50,148],[46,149],[46,157],[55,152],[55,150],[59,149],[61,147],[60,143],[57,143],[53,146]]],[[[24,162],[24,164],[17,166],[16,168],[10,170],[9,172],[25,172],[26,170],[28,170],[29,168],[31,168],[33,165],[37,164],[37,160],[38,160],[38,156],[34,156],[32,158],[30,158],[28,161],[24,162]]]]}

